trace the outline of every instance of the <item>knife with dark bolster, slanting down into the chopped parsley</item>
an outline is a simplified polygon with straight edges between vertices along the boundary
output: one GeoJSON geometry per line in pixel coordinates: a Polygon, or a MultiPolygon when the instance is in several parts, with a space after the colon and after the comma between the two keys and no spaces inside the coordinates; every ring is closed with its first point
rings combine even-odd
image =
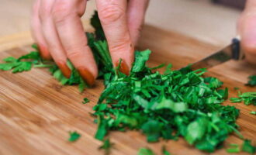
{"type": "Polygon", "coordinates": [[[240,50],[240,36],[234,38],[229,46],[192,64],[191,69],[210,68],[231,59],[244,59],[244,53],[240,50]]]}

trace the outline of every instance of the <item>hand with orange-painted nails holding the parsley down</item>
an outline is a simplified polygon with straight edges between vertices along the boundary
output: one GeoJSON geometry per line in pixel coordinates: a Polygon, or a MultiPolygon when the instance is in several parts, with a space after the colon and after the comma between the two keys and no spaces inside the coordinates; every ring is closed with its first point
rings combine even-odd
{"type": "MultiPolygon", "coordinates": [[[[122,59],[120,70],[129,74],[134,45],[140,36],[149,0],[95,0],[99,19],[109,43],[115,66],[122,59]]],[[[81,77],[92,85],[98,75],[81,24],[87,0],[36,0],[33,7],[32,33],[42,57],[53,58],[65,77],[71,76],[67,58],[81,77]]]]}

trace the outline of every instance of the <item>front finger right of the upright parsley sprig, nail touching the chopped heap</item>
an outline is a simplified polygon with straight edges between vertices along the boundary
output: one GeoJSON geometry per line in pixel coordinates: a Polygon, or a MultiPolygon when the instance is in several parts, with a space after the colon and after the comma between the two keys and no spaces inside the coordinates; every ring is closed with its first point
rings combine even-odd
{"type": "Polygon", "coordinates": [[[96,0],[99,19],[109,44],[114,66],[122,59],[120,71],[130,74],[133,64],[134,45],[127,24],[126,0],[96,0]]]}

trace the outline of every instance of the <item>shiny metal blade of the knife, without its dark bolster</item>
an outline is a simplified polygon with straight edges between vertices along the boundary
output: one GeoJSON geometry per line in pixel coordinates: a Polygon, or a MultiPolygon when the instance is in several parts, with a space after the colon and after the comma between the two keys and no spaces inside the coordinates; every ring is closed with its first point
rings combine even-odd
{"type": "Polygon", "coordinates": [[[203,58],[198,62],[192,64],[192,70],[196,70],[199,68],[210,68],[216,66],[218,64],[222,64],[227,60],[233,58],[233,44],[230,44],[228,47],[225,47],[223,50],[220,50],[216,53],[213,53],[209,57],[203,58]]]}

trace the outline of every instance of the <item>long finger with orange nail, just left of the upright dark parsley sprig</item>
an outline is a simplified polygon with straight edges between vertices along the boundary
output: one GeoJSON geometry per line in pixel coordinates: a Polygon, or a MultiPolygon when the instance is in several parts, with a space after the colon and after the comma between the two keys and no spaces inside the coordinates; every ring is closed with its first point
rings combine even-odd
{"type": "MultiPolygon", "coordinates": [[[[80,16],[83,10],[76,11],[78,6],[85,5],[85,0],[57,0],[54,10],[54,21],[61,43],[74,67],[88,85],[95,83],[98,75],[97,65],[88,47],[80,16]],[[81,2],[78,4],[78,2],[81,2]]],[[[85,9],[85,8],[82,8],[85,9]]]]}

